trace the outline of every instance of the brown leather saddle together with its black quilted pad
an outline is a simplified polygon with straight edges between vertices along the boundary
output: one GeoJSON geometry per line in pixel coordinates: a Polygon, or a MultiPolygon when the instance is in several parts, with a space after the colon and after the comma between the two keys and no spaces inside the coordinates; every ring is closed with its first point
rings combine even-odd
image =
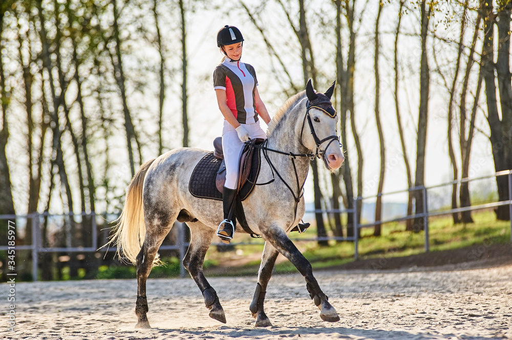
{"type": "MultiPolygon", "coordinates": [[[[261,155],[260,150],[254,152],[254,145],[263,143],[263,139],[250,140],[242,151],[239,163],[238,196],[245,200],[255,187],[256,180],[260,173],[261,155]]],[[[214,140],[214,152],[207,153],[196,165],[188,190],[199,198],[222,200],[222,187],[226,182],[226,165],[222,152],[222,138],[214,140]]]]}

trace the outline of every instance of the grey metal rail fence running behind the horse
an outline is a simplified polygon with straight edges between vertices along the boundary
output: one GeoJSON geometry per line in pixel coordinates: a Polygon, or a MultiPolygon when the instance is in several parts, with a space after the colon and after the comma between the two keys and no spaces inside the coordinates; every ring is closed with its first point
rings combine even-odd
{"type": "MultiPolygon", "coordinates": [[[[425,252],[429,251],[429,217],[432,216],[439,216],[439,215],[447,215],[452,213],[458,213],[458,212],[464,212],[464,211],[472,211],[472,210],[478,210],[478,209],[488,209],[488,208],[495,208],[500,206],[509,206],[509,216],[512,217],[512,170],[507,171],[501,171],[497,172],[493,175],[484,176],[484,177],[477,177],[477,178],[464,178],[460,180],[456,180],[451,183],[445,183],[441,185],[436,185],[432,187],[414,187],[410,188],[408,190],[403,191],[395,191],[391,193],[386,194],[379,194],[378,196],[382,195],[391,195],[391,194],[397,194],[397,193],[405,193],[405,192],[411,192],[421,190],[423,195],[423,212],[420,214],[414,214],[414,215],[408,215],[408,216],[401,216],[393,219],[388,220],[380,220],[375,221],[372,223],[359,223],[358,221],[358,213],[357,213],[357,206],[358,202],[364,199],[369,198],[375,198],[377,196],[369,196],[369,197],[355,197],[353,200],[354,208],[353,209],[337,209],[337,210],[309,210],[306,211],[306,213],[336,213],[336,214],[353,214],[354,218],[354,225],[353,225],[353,235],[350,237],[311,237],[311,238],[291,238],[293,241],[328,241],[328,240],[336,240],[336,241],[353,241],[354,242],[354,259],[357,260],[358,258],[358,241],[359,241],[359,230],[362,228],[370,228],[375,225],[384,224],[384,223],[390,223],[390,222],[400,222],[408,219],[413,218],[423,218],[423,227],[424,227],[424,233],[425,233],[425,252]],[[508,176],[508,200],[505,201],[497,201],[492,203],[485,203],[480,205],[475,205],[471,207],[463,207],[463,208],[457,208],[457,209],[450,209],[450,210],[442,210],[442,211],[432,211],[429,212],[428,210],[428,190],[439,188],[442,186],[448,186],[453,184],[460,184],[464,182],[470,182],[472,180],[478,180],[478,179],[487,179],[487,178],[493,178],[497,176],[508,176]]],[[[32,278],[34,281],[37,281],[38,279],[38,256],[40,253],[47,253],[47,252],[63,252],[63,253],[87,253],[87,252],[115,252],[117,251],[116,247],[109,247],[109,248],[98,248],[98,229],[97,229],[97,223],[96,223],[96,214],[91,213],[81,213],[81,214],[39,214],[39,213],[33,213],[28,215],[0,215],[0,220],[12,220],[16,218],[25,218],[25,219],[31,219],[31,232],[32,232],[32,244],[24,244],[24,245],[16,245],[15,250],[30,250],[32,251],[32,278]],[[70,218],[73,218],[74,216],[81,215],[83,217],[90,217],[91,218],[91,226],[92,226],[92,244],[89,247],[71,247],[71,243],[69,240],[67,240],[67,246],[66,247],[43,247],[42,246],[42,240],[41,240],[41,217],[55,217],[55,216],[68,216],[70,218]]],[[[186,274],[185,268],[183,266],[183,258],[186,254],[186,251],[188,249],[189,243],[186,242],[185,238],[185,223],[178,223],[178,236],[177,241],[175,245],[162,245],[160,246],[160,250],[178,250],[180,254],[180,276],[184,277],[186,274]]],[[[26,228],[29,228],[29,225],[26,226],[26,228]]],[[[176,228],[176,227],[175,227],[176,228]]],[[[510,218],[510,240],[512,242],[512,218],[510,218]]],[[[106,239],[105,239],[106,242],[106,239]]],[[[257,242],[232,242],[231,245],[237,246],[237,245],[247,245],[247,244],[263,244],[261,241],[257,242]]],[[[214,243],[219,245],[224,245],[223,243],[214,243]]],[[[0,251],[7,251],[8,246],[0,246],[0,251]]]]}

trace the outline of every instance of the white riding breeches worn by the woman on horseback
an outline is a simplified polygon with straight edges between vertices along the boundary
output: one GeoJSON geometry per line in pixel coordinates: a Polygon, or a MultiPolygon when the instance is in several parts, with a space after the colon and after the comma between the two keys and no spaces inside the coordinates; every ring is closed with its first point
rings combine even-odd
{"type": "MultiPolygon", "coordinates": [[[[260,126],[260,122],[244,124],[249,131],[250,138],[267,138],[267,134],[260,126]]],[[[226,120],[222,129],[222,150],[224,152],[224,161],[226,162],[226,183],[224,186],[228,189],[236,189],[238,181],[238,164],[240,155],[244,148],[244,143],[238,138],[238,132],[226,120]]]]}

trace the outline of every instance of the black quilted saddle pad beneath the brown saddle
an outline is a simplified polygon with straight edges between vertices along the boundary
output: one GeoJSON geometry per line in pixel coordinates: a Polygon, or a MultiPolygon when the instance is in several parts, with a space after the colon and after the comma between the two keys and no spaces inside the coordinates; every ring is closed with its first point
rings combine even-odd
{"type": "MultiPolygon", "coordinates": [[[[252,155],[251,173],[249,174],[249,180],[244,184],[240,192],[238,193],[241,200],[245,200],[249,197],[252,189],[258,179],[261,167],[261,156],[260,149],[254,150],[252,155]],[[252,182],[252,183],[251,183],[252,182]]],[[[222,193],[217,190],[215,185],[215,179],[217,178],[217,171],[222,164],[222,160],[215,158],[214,153],[207,153],[201,161],[196,165],[196,168],[190,176],[190,182],[188,183],[188,190],[190,193],[199,198],[217,199],[222,200],[222,193]]]]}

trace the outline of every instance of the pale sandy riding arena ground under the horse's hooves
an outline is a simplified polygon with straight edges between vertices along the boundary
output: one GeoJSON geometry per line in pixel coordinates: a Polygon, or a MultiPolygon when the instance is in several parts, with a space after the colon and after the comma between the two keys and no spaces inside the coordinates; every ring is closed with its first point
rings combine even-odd
{"type": "Polygon", "coordinates": [[[273,327],[254,329],[255,277],[212,278],[227,324],[208,318],[191,279],[150,279],[148,318],[135,331],[135,280],[16,284],[16,332],[7,331],[2,284],[0,338],[27,339],[482,339],[512,338],[512,265],[444,271],[316,275],[341,321],[322,322],[300,275],[274,276],[265,310],[273,327]]]}

